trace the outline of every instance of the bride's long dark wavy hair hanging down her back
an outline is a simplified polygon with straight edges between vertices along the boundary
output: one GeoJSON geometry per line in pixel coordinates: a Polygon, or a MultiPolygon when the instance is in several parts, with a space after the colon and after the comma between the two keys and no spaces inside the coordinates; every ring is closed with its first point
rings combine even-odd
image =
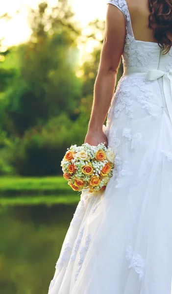
{"type": "Polygon", "coordinates": [[[163,54],[167,54],[172,47],[172,41],[167,36],[168,32],[172,33],[172,0],[148,0],[148,6],[149,27],[153,29],[163,54]]]}

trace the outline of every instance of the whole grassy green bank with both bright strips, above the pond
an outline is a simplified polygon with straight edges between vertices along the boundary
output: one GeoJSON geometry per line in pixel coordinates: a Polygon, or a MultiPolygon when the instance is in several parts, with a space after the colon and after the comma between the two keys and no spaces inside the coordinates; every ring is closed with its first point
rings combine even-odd
{"type": "Polygon", "coordinates": [[[62,176],[0,177],[0,205],[75,204],[79,198],[62,176]]]}

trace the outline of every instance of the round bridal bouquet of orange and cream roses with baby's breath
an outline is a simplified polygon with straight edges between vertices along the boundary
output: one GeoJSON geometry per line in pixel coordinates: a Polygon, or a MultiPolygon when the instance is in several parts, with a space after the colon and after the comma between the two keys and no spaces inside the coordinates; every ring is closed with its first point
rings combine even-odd
{"type": "Polygon", "coordinates": [[[97,193],[105,190],[112,176],[114,158],[111,147],[106,148],[104,143],[72,145],[61,161],[63,176],[74,191],[97,193]]]}

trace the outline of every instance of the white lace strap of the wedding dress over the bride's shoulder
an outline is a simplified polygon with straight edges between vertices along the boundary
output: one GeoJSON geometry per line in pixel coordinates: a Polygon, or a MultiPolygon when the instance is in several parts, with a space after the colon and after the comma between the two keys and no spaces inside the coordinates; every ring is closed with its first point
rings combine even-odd
{"type": "Polygon", "coordinates": [[[126,0],[107,0],[107,4],[108,3],[115,5],[121,10],[121,12],[123,12],[123,15],[125,17],[127,34],[129,34],[131,37],[134,38],[134,34],[133,34],[132,26],[131,26],[131,18],[130,18],[126,0]]]}

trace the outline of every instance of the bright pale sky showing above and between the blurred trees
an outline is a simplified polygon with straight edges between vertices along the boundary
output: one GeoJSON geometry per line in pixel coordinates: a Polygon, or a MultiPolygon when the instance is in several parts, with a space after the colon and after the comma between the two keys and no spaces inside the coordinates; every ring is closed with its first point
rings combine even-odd
{"type": "MultiPolygon", "coordinates": [[[[1,0],[2,1],[2,0],[1,0]]],[[[49,5],[55,6],[56,0],[47,0],[49,5]]],[[[6,23],[0,20],[0,38],[4,37],[3,45],[11,46],[25,42],[30,34],[27,25],[28,7],[36,8],[40,0],[5,0],[0,3],[0,15],[8,13],[12,19],[6,23]],[[18,13],[16,13],[19,11],[18,13]]],[[[99,18],[105,19],[106,0],[70,0],[75,19],[85,27],[88,22],[99,18]]]]}

